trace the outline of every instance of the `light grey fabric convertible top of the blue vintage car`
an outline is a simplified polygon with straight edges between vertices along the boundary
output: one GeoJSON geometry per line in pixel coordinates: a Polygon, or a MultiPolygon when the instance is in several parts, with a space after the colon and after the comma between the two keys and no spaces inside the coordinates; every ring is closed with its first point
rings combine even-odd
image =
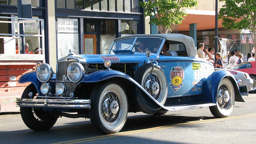
{"type": "Polygon", "coordinates": [[[129,36],[122,36],[122,37],[116,38],[115,40],[119,40],[122,38],[137,37],[137,36],[161,37],[161,38],[165,38],[166,40],[182,42],[186,47],[189,57],[198,57],[196,53],[196,46],[194,44],[194,39],[184,34],[133,34],[129,36]]]}

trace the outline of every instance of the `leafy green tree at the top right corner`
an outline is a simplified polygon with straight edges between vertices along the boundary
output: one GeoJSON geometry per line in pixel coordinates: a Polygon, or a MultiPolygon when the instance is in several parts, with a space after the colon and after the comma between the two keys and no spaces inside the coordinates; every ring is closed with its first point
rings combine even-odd
{"type": "Polygon", "coordinates": [[[230,29],[248,29],[256,46],[256,2],[255,0],[220,0],[225,2],[220,8],[218,19],[222,26],[230,29]]]}

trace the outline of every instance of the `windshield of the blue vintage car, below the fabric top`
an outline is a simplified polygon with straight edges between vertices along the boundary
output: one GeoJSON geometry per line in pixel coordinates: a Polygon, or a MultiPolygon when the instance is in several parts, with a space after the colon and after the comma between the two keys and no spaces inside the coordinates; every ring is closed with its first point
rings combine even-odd
{"type": "Polygon", "coordinates": [[[114,54],[114,50],[131,50],[132,52],[146,52],[150,50],[151,53],[156,54],[162,46],[163,38],[149,38],[137,37],[127,38],[114,42],[109,54],[114,54]]]}

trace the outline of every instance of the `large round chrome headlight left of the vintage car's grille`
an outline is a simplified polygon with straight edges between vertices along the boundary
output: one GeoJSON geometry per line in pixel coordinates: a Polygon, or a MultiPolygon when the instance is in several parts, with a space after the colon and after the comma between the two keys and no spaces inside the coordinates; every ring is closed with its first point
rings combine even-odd
{"type": "Polygon", "coordinates": [[[52,78],[52,67],[49,64],[40,64],[36,70],[36,76],[40,82],[47,82],[52,78]]]}

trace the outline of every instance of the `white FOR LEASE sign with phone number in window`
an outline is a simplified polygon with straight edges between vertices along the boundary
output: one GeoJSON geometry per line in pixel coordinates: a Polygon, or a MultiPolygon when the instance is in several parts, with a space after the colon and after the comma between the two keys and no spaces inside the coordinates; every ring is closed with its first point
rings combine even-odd
{"type": "Polygon", "coordinates": [[[78,33],[78,19],[58,18],[58,33],[78,33]]]}

